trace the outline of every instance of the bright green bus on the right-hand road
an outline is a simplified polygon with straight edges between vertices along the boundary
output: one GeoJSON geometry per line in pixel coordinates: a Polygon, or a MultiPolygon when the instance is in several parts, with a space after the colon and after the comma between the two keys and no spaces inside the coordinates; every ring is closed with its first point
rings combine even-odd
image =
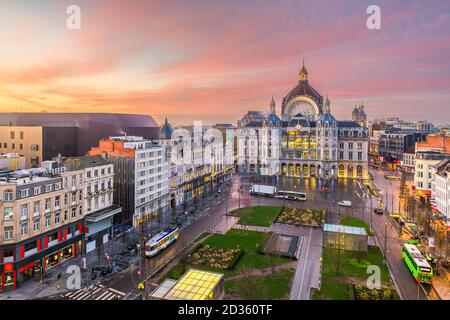
{"type": "Polygon", "coordinates": [[[431,283],[433,269],[415,245],[404,243],[402,245],[402,256],[417,282],[431,283]]]}

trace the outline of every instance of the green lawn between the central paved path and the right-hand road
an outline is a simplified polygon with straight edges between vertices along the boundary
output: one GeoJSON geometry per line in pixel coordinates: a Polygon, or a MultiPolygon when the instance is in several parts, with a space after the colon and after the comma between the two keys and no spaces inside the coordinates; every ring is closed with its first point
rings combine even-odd
{"type": "Polygon", "coordinates": [[[322,284],[320,291],[313,295],[315,300],[350,300],[353,299],[350,286],[345,277],[366,281],[369,277],[367,267],[377,265],[381,270],[382,283],[389,282],[389,270],[383,264],[383,255],[376,246],[369,246],[367,252],[354,252],[323,249],[322,284]],[[338,252],[340,255],[338,256],[338,252]],[[338,260],[339,257],[339,260],[338,260]],[[337,270],[339,265],[339,270],[337,270]]]}

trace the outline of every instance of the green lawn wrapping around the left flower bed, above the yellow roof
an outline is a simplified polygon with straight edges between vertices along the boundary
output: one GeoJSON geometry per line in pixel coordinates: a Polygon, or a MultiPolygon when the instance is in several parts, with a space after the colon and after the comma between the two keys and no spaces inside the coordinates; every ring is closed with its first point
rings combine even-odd
{"type": "MultiPolygon", "coordinates": [[[[230,229],[226,234],[214,234],[203,243],[216,248],[231,249],[239,248],[243,251],[243,255],[234,266],[233,270],[216,270],[206,266],[193,266],[197,269],[211,270],[224,273],[225,275],[239,273],[249,269],[264,269],[272,267],[272,264],[281,265],[291,261],[288,258],[277,257],[276,260],[270,260],[269,256],[258,252],[259,246],[263,246],[268,233],[256,232],[250,230],[230,229]]],[[[262,248],[261,248],[262,249],[262,248]]],[[[179,263],[172,268],[167,277],[178,279],[189,266],[179,263]]]]}

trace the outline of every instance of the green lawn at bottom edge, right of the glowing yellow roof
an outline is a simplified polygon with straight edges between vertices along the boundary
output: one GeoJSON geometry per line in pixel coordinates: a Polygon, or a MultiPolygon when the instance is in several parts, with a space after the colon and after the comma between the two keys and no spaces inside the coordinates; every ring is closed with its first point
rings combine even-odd
{"type": "Polygon", "coordinates": [[[267,276],[248,276],[225,281],[225,293],[246,300],[275,300],[287,298],[293,270],[280,270],[267,276]]]}

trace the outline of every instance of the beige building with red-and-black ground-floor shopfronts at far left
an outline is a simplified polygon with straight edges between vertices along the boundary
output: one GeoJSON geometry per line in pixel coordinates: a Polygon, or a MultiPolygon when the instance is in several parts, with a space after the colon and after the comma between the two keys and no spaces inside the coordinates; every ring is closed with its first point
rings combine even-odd
{"type": "Polygon", "coordinates": [[[21,170],[0,178],[0,288],[41,277],[82,250],[82,172],[21,170]]]}

